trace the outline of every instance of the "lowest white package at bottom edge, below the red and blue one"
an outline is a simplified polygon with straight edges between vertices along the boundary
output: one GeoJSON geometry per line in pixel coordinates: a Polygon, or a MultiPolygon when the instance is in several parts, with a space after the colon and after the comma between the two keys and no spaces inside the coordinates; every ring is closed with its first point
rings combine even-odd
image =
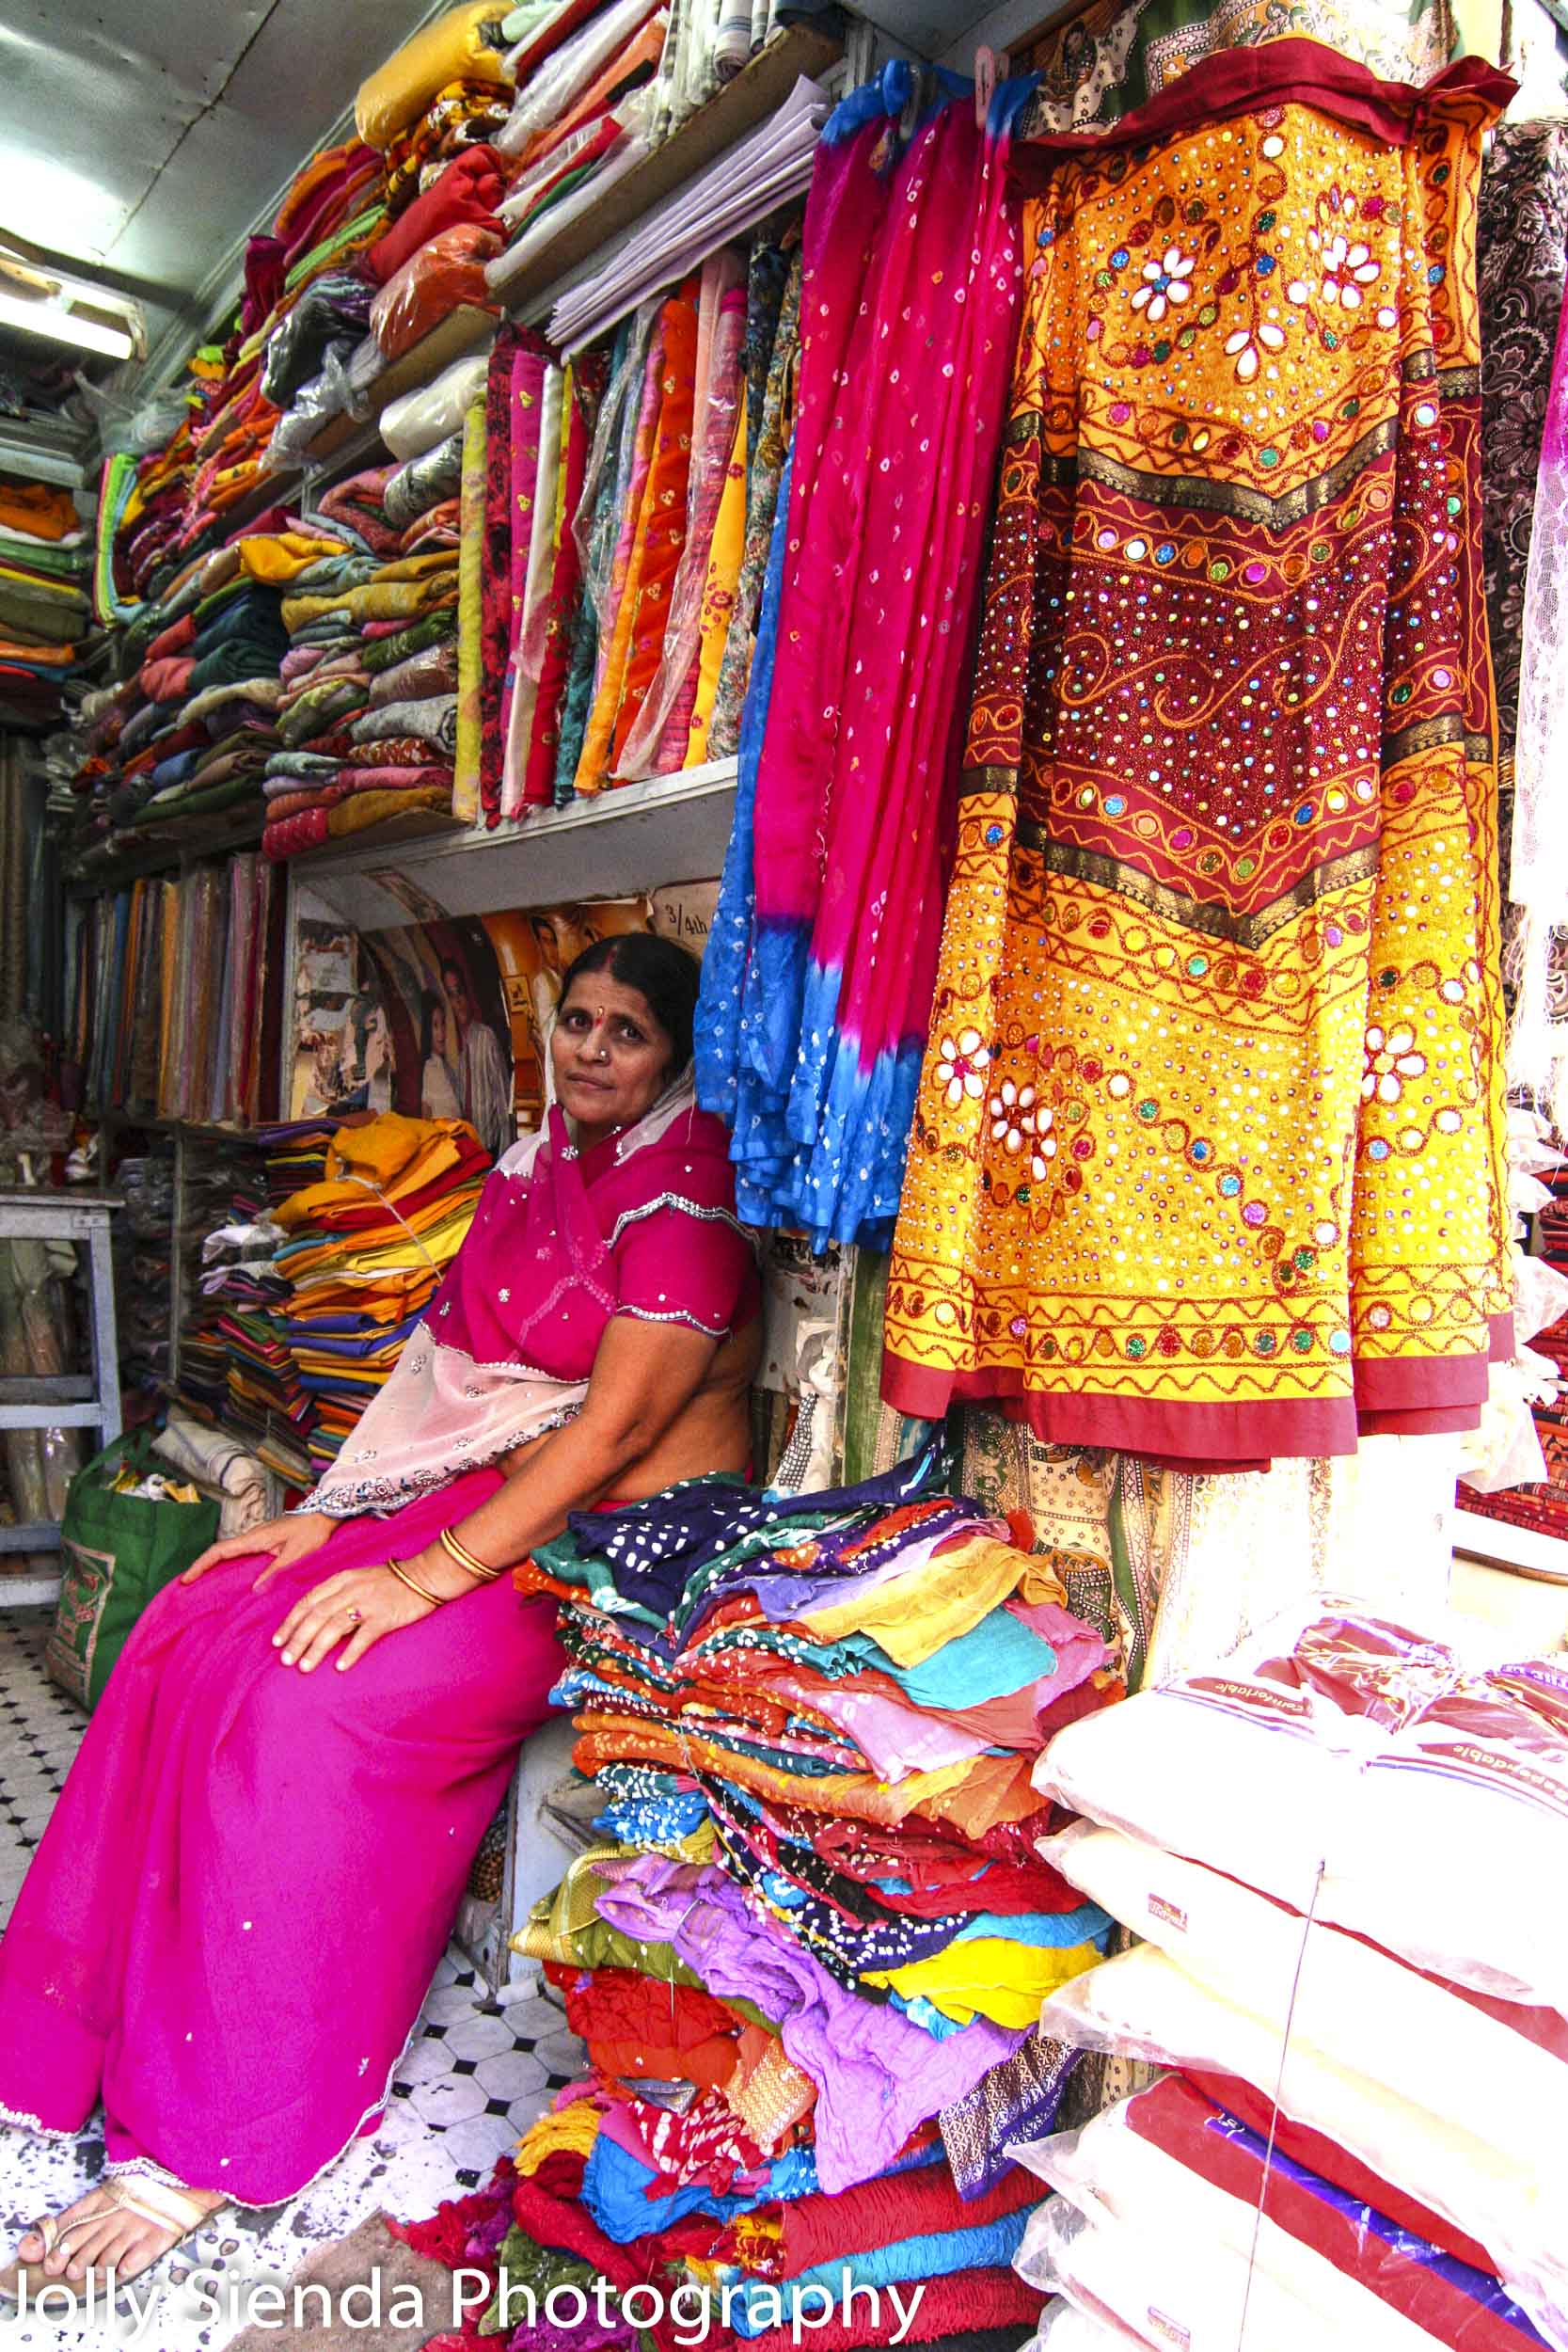
{"type": "MultiPolygon", "coordinates": [[[[1157,2352],[1453,2352],[1368,2281],[1126,2126],[1126,2105],[1079,2133],[1013,2150],[1058,2190],[1016,2256],[1032,2286],[1072,2296],[1157,2352]]],[[[1526,2331],[1519,2352],[1528,2352],[1526,2331]]]]}

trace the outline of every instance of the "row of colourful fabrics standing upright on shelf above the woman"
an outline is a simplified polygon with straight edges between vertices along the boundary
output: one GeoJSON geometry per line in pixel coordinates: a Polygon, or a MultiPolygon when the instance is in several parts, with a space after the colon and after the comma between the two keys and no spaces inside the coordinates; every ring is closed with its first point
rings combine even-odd
{"type": "Polygon", "coordinates": [[[799,348],[799,238],[715,254],[607,346],[489,362],[487,823],[738,743],[799,348]]]}

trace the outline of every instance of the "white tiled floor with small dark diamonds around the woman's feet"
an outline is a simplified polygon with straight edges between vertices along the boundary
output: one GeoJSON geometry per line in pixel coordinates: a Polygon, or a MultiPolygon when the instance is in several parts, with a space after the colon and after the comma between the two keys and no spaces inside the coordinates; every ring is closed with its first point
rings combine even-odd
{"type": "MultiPolygon", "coordinates": [[[[0,1609],[0,1922],[71,1769],[85,1717],[45,1675],[47,1613],[0,1609]]],[[[153,2352],[216,2352],[237,2333],[228,2319],[181,2310],[190,2267],[221,2270],[244,2284],[287,2279],[317,2249],[346,2237],[367,2213],[400,2220],[433,2213],[489,2178],[496,2157],[515,2147],[550,2096],[581,2072],[581,2044],[545,1999],[498,2009],[465,1959],[437,1969],[418,2032],[397,2074],[386,2122],[315,2187],[266,2211],[216,2216],[165,2265],[158,2321],[141,2338],[153,2352]]],[[[45,2140],[0,2124],[0,2260],[38,2213],[80,2197],[103,2161],[94,2126],[78,2140],[45,2140]]],[[[188,2298],[186,2298],[188,2300],[188,2298]]],[[[75,2352],[78,2345],[132,2340],[134,2317],[110,2328],[5,2321],[5,2352],[75,2352]]]]}

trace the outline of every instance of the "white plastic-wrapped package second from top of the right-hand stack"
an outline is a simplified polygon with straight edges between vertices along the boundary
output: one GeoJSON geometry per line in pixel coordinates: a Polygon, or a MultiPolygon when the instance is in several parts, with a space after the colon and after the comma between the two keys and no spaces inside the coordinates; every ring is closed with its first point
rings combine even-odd
{"type": "MultiPolygon", "coordinates": [[[[1041,1844],[1063,1877],[1168,1952],[1190,1976],[1274,2037],[1331,2051],[1349,2072],[1568,2183],[1568,2027],[1540,2009],[1507,2011],[1434,1983],[1218,1870],[1119,1830],[1077,1823],[1041,1844]],[[1549,2037],[1554,2046],[1530,2039],[1549,2037]],[[1563,2056],[1559,2056],[1559,2051],[1563,2056]]],[[[1378,2166],[1382,2169],[1382,2166],[1378,2166]]],[[[1432,2199],[1425,2199],[1427,2204],[1432,2199]]],[[[1474,2220],[1460,2227],[1481,2237],[1474,2220]]]]}

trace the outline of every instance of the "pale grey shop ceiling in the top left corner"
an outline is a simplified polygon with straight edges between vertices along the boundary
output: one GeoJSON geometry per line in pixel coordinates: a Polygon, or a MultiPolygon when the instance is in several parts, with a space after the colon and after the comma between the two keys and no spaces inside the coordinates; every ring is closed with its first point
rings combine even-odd
{"type": "MultiPolygon", "coordinates": [[[[433,12],[430,0],[87,0],[68,12],[5,0],[0,230],[139,299],[155,362],[160,341],[207,329],[254,221],[433,12]]],[[[82,365],[94,381],[113,374],[113,362],[0,332],[0,374],[26,372],[45,412],[82,365]]]]}

